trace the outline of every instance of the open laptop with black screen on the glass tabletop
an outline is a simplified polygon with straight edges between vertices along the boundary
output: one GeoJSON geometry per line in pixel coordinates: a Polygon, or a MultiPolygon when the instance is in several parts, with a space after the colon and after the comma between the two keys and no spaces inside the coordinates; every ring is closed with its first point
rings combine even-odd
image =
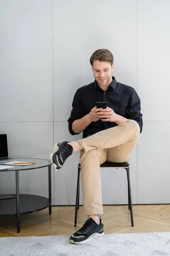
{"type": "Polygon", "coordinates": [[[0,163],[10,162],[13,158],[8,157],[7,135],[0,134],[0,163]]]}

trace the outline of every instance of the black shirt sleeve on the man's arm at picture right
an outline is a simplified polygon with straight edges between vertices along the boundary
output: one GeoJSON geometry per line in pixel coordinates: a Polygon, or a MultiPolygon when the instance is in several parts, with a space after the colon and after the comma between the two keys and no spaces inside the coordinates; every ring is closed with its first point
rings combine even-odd
{"type": "Polygon", "coordinates": [[[127,118],[135,120],[140,127],[140,133],[142,132],[142,113],[141,113],[141,101],[134,88],[130,90],[129,102],[127,107],[127,118]]]}

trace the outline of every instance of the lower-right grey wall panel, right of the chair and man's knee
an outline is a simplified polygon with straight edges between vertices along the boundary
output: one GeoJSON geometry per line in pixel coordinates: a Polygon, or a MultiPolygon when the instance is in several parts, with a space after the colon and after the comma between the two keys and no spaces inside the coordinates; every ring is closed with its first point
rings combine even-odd
{"type": "Polygon", "coordinates": [[[138,143],[138,204],[169,204],[170,122],[147,121],[138,143]]]}

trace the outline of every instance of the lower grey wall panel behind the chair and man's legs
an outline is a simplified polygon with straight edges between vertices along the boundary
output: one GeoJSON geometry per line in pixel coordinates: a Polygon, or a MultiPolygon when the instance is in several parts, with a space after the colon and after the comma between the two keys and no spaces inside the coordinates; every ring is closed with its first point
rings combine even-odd
{"type": "MultiPolygon", "coordinates": [[[[79,140],[82,134],[72,136],[68,133],[67,122],[54,122],[54,142],[63,140],[79,140]]],[[[136,147],[133,149],[130,160],[130,179],[133,204],[137,202],[137,164],[136,147]]],[[[75,204],[77,189],[77,166],[79,152],[71,155],[62,169],[54,171],[54,204],[75,204]]],[[[127,204],[127,174],[125,169],[101,169],[103,204],[127,204]]],[[[82,191],[80,189],[80,204],[82,191]]]]}

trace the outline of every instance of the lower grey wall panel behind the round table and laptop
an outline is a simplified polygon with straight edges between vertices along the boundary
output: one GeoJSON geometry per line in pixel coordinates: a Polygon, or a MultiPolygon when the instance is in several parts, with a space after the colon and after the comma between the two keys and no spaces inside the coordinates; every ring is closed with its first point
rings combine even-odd
{"type": "MultiPolygon", "coordinates": [[[[8,135],[10,157],[49,159],[53,148],[53,122],[0,122],[0,133],[8,135]]],[[[48,168],[21,171],[20,193],[48,197],[48,168]]],[[[52,186],[54,171],[52,168],[52,186]]],[[[0,172],[0,193],[15,193],[14,172],[0,172]]],[[[54,202],[54,188],[52,187],[54,202]]]]}

